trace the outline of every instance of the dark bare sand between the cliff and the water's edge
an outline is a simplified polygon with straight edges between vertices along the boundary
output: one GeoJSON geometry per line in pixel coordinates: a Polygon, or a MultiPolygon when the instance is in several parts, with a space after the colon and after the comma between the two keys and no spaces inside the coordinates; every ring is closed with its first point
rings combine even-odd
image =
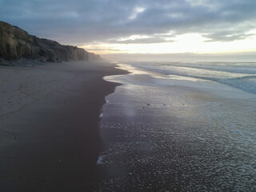
{"type": "Polygon", "coordinates": [[[0,66],[0,190],[89,190],[104,97],[124,74],[104,62],[0,66]]]}

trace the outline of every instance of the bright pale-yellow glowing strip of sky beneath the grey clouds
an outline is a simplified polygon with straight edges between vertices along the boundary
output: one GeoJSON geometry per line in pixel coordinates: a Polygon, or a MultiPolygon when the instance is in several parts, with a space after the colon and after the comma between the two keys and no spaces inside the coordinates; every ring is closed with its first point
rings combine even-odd
{"type": "MultiPolygon", "coordinates": [[[[233,42],[209,42],[202,34],[182,34],[168,38],[172,42],[160,43],[122,43],[127,39],[147,38],[132,35],[130,38],[119,38],[115,43],[94,42],[82,46],[97,54],[172,54],[172,53],[230,53],[256,50],[256,35],[233,42]]],[[[167,38],[166,38],[167,39],[167,38]]]]}

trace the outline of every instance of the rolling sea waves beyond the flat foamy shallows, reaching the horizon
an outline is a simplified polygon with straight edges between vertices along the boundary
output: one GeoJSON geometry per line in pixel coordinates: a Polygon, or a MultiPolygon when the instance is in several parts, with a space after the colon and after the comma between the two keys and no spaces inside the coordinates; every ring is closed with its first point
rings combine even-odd
{"type": "Polygon", "coordinates": [[[210,80],[256,94],[256,62],[138,62],[134,66],[170,79],[210,80]]]}

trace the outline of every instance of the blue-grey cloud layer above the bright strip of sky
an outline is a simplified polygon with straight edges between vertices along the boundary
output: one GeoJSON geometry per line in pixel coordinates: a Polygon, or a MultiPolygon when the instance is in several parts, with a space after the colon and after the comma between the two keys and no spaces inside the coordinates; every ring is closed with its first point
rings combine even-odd
{"type": "Polygon", "coordinates": [[[165,42],[154,34],[169,31],[234,41],[256,28],[255,10],[255,0],[0,0],[2,21],[74,45],[133,34],[152,38],[125,43],[165,42]]]}

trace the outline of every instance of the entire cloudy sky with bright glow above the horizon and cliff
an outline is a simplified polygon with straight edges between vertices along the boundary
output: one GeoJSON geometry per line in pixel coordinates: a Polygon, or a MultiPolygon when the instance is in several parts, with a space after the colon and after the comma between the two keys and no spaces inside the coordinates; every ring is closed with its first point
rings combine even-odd
{"type": "Polygon", "coordinates": [[[256,51],[255,0],[0,0],[0,20],[97,54],[256,51]]]}

